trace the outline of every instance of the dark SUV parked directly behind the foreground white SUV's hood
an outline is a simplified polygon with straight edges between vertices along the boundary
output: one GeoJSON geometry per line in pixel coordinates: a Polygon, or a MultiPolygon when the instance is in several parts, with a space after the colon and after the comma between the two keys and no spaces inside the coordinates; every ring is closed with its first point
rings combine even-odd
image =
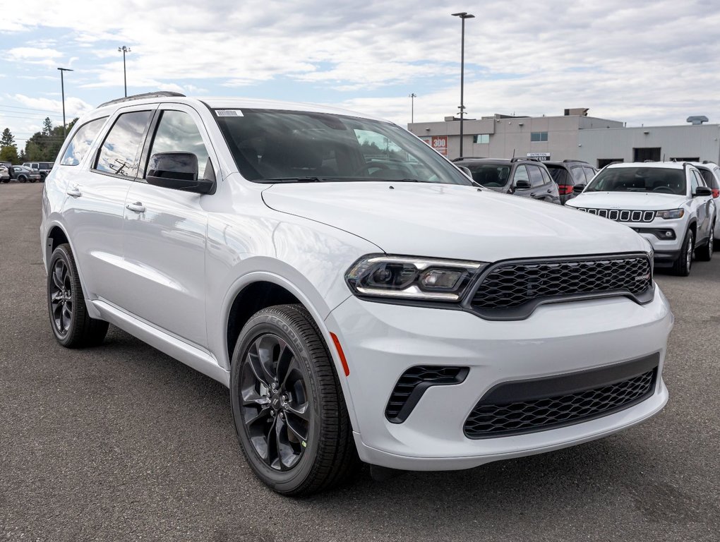
{"type": "Polygon", "coordinates": [[[453,163],[468,168],[472,179],[490,190],[560,203],[557,184],[542,162],[522,158],[462,158],[453,163]]]}

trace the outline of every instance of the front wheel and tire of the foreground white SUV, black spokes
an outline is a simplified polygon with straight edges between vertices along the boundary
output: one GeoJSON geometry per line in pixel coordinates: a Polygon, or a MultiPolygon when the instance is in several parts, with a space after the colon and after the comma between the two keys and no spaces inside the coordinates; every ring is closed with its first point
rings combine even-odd
{"type": "Polygon", "coordinates": [[[360,466],[333,361],[302,305],[268,307],[243,327],[230,403],[243,455],[280,494],[329,489],[360,466]]]}

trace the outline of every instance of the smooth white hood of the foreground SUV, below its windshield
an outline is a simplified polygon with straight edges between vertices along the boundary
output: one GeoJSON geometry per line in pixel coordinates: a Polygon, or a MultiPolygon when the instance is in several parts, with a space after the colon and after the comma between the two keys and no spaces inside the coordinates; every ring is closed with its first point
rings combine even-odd
{"type": "Polygon", "coordinates": [[[337,227],[385,253],[472,261],[647,250],[633,230],[575,209],[472,186],[274,184],[268,207],[337,227]]]}

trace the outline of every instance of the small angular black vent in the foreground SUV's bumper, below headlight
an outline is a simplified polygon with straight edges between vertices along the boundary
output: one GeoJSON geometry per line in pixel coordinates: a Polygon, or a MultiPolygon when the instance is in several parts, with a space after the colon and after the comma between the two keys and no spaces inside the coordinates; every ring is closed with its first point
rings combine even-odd
{"type": "Polygon", "coordinates": [[[405,371],[392,389],[385,416],[401,423],[410,415],[426,389],[431,386],[459,384],[467,376],[467,367],[416,365],[405,371]]]}

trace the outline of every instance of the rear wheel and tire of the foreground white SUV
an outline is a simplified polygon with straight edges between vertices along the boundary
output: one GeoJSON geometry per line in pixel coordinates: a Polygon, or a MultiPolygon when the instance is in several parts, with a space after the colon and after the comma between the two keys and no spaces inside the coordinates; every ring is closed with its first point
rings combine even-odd
{"type": "Polygon", "coordinates": [[[55,339],[66,348],[99,345],[107,333],[107,322],[87,313],[78,268],[67,243],[50,256],[48,313],[55,339]]]}

